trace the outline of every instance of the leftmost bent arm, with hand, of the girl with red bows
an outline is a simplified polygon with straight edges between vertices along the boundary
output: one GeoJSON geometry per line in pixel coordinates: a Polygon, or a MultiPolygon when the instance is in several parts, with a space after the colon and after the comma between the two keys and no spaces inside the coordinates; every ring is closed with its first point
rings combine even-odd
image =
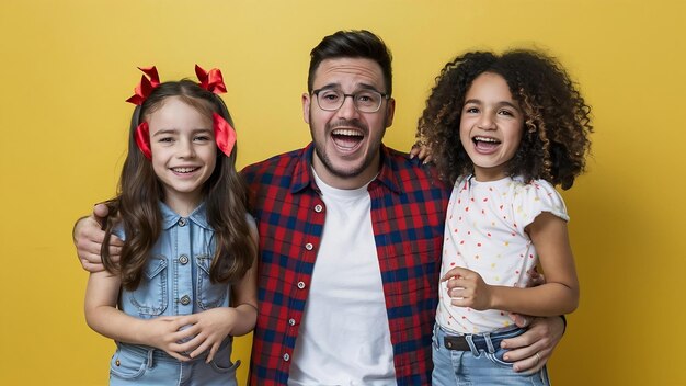
{"type": "Polygon", "coordinates": [[[107,271],[90,274],[85,290],[85,321],[95,332],[121,342],[146,344],[164,350],[171,356],[187,361],[176,343],[188,333],[179,331],[179,317],[138,319],[116,308],[121,280],[107,271]]]}

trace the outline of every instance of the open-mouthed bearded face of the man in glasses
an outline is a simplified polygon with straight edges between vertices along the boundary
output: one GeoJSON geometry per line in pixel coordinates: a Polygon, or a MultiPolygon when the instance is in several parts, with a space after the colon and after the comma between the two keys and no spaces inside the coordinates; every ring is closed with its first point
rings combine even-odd
{"type": "MultiPolygon", "coordinates": [[[[315,72],[313,90],[332,89],[345,94],[375,90],[386,93],[381,67],[374,60],[335,58],[323,60],[315,72]]],[[[356,189],[379,170],[379,148],[386,127],[393,121],[396,103],[384,99],[375,113],[362,113],[353,98],[341,109],[324,111],[313,94],[302,95],[305,122],[315,141],[312,164],[317,174],[339,189],[356,189]]]]}

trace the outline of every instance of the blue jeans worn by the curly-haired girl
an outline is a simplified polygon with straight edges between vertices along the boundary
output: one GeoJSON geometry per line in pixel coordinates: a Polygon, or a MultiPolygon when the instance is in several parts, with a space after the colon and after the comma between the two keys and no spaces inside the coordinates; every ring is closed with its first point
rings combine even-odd
{"type": "Polygon", "coordinates": [[[466,345],[448,342],[461,350],[446,348],[446,337],[460,337],[447,333],[437,325],[434,326],[433,359],[434,372],[432,385],[542,385],[548,386],[548,371],[544,366],[534,374],[515,373],[512,363],[505,362],[503,355],[507,350],[501,349],[503,339],[514,338],[524,333],[524,329],[485,334],[466,334],[466,345]]]}

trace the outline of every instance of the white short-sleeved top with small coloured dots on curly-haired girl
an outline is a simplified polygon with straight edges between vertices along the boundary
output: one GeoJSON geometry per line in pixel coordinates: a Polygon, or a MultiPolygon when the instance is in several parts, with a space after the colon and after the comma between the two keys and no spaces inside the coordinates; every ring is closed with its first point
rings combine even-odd
{"type": "MultiPolygon", "coordinates": [[[[458,179],[448,203],[441,276],[464,266],[488,284],[526,287],[538,257],[524,228],[542,212],[569,220],[562,197],[546,181],[458,179]]],[[[513,323],[504,311],[453,306],[446,285],[439,285],[436,311],[436,322],[445,330],[484,333],[513,323]]]]}

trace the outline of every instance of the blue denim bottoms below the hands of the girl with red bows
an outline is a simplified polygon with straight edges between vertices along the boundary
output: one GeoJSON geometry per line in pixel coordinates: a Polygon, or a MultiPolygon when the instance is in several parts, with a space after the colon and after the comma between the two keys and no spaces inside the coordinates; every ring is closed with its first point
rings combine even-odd
{"type": "Polygon", "coordinates": [[[165,352],[134,344],[117,344],[110,363],[111,386],[236,386],[236,368],[231,363],[231,343],[225,341],[210,363],[203,353],[190,362],[181,362],[165,352]],[[228,344],[227,344],[228,343],[228,344]]]}

